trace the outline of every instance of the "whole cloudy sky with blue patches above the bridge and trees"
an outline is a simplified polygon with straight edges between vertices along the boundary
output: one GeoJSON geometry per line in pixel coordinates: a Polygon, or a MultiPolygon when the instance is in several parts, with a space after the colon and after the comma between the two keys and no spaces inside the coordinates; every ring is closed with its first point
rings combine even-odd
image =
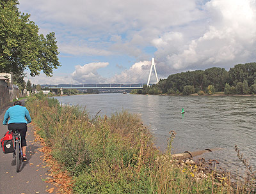
{"type": "Polygon", "coordinates": [[[159,78],[256,61],[256,0],[19,3],[60,52],[52,77],[28,71],[33,84],[147,83],[152,57],[159,78]]]}

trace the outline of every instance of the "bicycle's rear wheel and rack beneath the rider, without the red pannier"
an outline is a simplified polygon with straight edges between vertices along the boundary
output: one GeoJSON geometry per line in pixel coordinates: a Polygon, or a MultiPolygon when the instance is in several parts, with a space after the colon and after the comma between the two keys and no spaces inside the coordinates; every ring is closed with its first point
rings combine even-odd
{"type": "Polygon", "coordinates": [[[20,138],[20,131],[13,130],[13,141],[15,143],[13,154],[16,157],[16,172],[20,171],[20,165],[22,163],[22,149],[21,149],[21,138],[20,138]]]}

